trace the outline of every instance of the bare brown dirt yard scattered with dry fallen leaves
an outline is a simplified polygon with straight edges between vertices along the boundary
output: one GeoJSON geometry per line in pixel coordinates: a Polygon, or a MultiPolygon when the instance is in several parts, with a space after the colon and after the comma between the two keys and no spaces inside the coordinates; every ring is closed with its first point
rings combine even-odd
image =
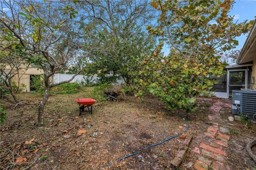
{"type": "MultiPolygon", "coordinates": [[[[170,169],[171,160],[182,147],[182,138],[175,138],[147,150],[143,147],[160,142],[185,130],[193,135],[188,157],[180,169],[194,169],[198,146],[210,126],[209,107],[218,99],[200,100],[193,113],[167,112],[162,102],[146,96],[143,103],[133,96],[121,101],[98,102],[93,114],[78,115],[74,98],[86,98],[92,88],[78,94],[51,95],[44,112],[44,126],[36,127],[37,104],[41,95],[26,93],[18,97],[34,105],[16,108],[7,105],[7,119],[1,127],[1,169],[170,169]],[[115,162],[132,152],[138,155],[115,162]],[[110,167],[106,165],[112,163],[110,167]]],[[[230,101],[226,101],[230,102],[230,101]]],[[[227,120],[230,109],[222,118],[227,120]]],[[[229,123],[229,122],[227,122],[229,123]]],[[[252,161],[245,151],[248,141],[255,138],[256,125],[246,129],[242,122],[231,123],[228,164],[233,169],[247,169],[252,161]]]]}

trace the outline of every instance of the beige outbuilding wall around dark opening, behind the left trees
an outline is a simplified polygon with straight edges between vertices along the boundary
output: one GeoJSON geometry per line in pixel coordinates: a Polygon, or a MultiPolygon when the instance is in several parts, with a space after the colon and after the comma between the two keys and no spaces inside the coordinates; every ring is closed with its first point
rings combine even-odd
{"type": "Polygon", "coordinates": [[[30,75],[40,75],[43,74],[42,69],[36,68],[28,68],[28,69],[20,69],[19,75],[15,75],[12,81],[19,87],[20,92],[29,92],[30,91],[30,75]]]}

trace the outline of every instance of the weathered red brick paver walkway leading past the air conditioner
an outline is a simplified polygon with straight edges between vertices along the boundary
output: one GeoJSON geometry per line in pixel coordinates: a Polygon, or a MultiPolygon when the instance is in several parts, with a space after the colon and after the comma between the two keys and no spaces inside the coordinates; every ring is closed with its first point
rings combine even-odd
{"type": "Polygon", "coordinates": [[[229,107],[229,104],[218,101],[210,107],[212,113],[208,115],[208,118],[212,125],[204,133],[205,137],[200,145],[193,149],[196,154],[199,154],[194,164],[194,168],[197,170],[210,168],[214,170],[230,169],[225,164],[227,159],[225,150],[228,147],[230,132],[229,129],[220,126],[224,122],[220,116],[222,106],[229,107]]]}

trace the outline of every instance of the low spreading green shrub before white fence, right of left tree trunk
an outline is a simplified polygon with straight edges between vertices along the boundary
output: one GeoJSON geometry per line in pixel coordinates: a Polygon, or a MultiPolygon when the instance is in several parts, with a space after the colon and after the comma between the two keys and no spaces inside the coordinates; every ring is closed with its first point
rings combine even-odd
{"type": "Polygon", "coordinates": [[[64,83],[59,86],[51,88],[53,94],[76,94],[79,89],[81,89],[81,84],[74,83],[64,83]]]}

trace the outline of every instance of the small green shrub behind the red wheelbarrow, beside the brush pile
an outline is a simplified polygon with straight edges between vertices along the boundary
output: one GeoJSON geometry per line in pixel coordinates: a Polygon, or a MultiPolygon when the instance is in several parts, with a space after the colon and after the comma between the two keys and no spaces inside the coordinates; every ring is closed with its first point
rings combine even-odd
{"type": "Polygon", "coordinates": [[[111,86],[111,84],[101,84],[99,86],[95,86],[89,97],[97,101],[105,101],[107,98],[105,97],[103,90],[109,88],[113,88],[113,86],[111,86]]]}

